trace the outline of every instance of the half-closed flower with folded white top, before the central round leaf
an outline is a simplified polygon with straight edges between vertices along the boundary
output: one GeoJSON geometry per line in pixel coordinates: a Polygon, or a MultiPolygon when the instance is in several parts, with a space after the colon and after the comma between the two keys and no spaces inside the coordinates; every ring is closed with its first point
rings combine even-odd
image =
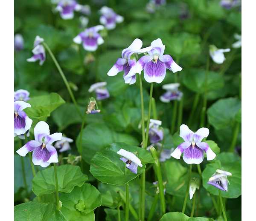
{"type": "Polygon", "coordinates": [[[117,151],[116,153],[122,156],[120,160],[126,163],[126,167],[131,170],[131,172],[137,174],[138,166],[142,167],[140,159],[137,158],[134,153],[129,152],[125,149],[119,149],[119,151],[117,151]]]}

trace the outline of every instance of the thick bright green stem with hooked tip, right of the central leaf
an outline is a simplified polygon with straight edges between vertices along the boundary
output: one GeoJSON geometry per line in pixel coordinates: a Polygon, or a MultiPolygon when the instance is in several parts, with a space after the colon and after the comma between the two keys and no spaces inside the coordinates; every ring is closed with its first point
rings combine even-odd
{"type": "Polygon", "coordinates": [[[165,214],[166,207],[165,207],[164,187],[163,187],[161,166],[160,166],[160,162],[157,157],[157,151],[153,146],[150,147],[150,152],[154,158],[154,166],[155,166],[155,169],[157,172],[157,181],[158,181],[158,187],[159,187],[159,191],[160,191],[160,203],[161,203],[161,210],[162,210],[162,215],[163,215],[163,214],[165,214]]]}

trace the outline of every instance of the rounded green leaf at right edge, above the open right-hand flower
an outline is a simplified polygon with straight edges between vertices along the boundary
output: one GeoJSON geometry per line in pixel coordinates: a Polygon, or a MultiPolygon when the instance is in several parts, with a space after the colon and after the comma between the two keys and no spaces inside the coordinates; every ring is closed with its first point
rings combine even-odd
{"type": "Polygon", "coordinates": [[[207,110],[208,121],[217,130],[225,129],[232,126],[240,109],[241,101],[238,98],[220,99],[207,110]]]}

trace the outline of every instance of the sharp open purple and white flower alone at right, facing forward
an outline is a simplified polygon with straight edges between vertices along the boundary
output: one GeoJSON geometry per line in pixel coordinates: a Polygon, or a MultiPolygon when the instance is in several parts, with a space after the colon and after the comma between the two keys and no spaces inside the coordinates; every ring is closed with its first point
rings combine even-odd
{"type": "Polygon", "coordinates": [[[183,160],[186,164],[201,164],[204,160],[204,152],[206,152],[207,161],[213,160],[216,154],[207,143],[201,142],[208,135],[209,129],[206,127],[202,127],[194,133],[188,126],[182,124],[180,126],[180,137],[185,142],[177,146],[171,156],[180,159],[180,155],[183,153],[183,160]]]}

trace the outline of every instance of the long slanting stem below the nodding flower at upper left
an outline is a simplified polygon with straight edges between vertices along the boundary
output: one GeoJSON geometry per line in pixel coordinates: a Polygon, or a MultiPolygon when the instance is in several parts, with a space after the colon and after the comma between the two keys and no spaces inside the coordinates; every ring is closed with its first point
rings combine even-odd
{"type": "Polygon", "coordinates": [[[75,104],[75,107],[76,107],[76,110],[77,110],[78,114],[79,114],[80,117],[82,118],[83,115],[82,115],[82,113],[81,113],[81,111],[80,111],[80,109],[79,109],[79,107],[78,107],[78,105],[77,105],[77,103],[76,103],[76,98],[75,98],[75,96],[73,95],[73,92],[72,92],[72,90],[71,90],[71,88],[70,88],[70,85],[69,85],[69,83],[67,82],[67,78],[65,77],[63,71],[61,70],[61,67],[60,67],[60,65],[58,64],[58,61],[56,60],[55,56],[53,55],[53,53],[52,53],[51,49],[49,48],[49,46],[47,45],[47,43],[43,42],[42,44],[44,45],[44,47],[47,49],[47,51],[49,52],[50,56],[52,57],[52,60],[53,60],[53,62],[55,63],[55,65],[56,65],[56,67],[57,67],[57,69],[58,69],[58,72],[60,73],[60,75],[61,75],[61,77],[62,77],[62,80],[64,81],[64,83],[65,83],[65,85],[66,85],[66,87],[67,87],[67,90],[68,90],[68,92],[69,92],[69,94],[70,94],[70,98],[72,99],[73,103],[75,104]]]}

